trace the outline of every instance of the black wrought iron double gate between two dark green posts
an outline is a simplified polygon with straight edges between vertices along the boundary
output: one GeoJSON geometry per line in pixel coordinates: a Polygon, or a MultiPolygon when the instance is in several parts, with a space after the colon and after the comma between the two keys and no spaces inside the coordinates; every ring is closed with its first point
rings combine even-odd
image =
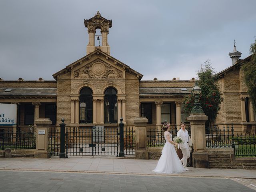
{"type": "Polygon", "coordinates": [[[66,127],[66,157],[118,156],[118,127],[66,127]]]}

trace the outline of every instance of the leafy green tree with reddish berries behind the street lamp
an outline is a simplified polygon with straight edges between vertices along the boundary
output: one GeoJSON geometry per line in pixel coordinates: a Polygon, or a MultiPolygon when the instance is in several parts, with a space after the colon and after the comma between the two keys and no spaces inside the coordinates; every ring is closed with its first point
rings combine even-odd
{"type": "MultiPolygon", "coordinates": [[[[199,102],[204,110],[204,113],[208,116],[206,124],[212,125],[218,111],[220,110],[220,103],[223,98],[220,94],[220,89],[217,83],[218,78],[214,76],[215,72],[211,66],[210,60],[204,62],[204,67],[197,72],[198,85],[200,86],[202,93],[199,97],[199,102]]],[[[190,114],[194,106],[194,95],[189,95],[184,98],[184,110],[190,114]]]]}

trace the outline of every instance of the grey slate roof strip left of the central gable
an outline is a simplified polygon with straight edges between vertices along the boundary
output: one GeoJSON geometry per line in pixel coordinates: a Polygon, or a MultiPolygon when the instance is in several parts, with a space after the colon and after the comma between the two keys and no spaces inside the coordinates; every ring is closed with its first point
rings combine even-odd
{"type": "Polygon", "coordinates": [[[57,88],[0,88],[0,95],[56,95],[57,88]]]}

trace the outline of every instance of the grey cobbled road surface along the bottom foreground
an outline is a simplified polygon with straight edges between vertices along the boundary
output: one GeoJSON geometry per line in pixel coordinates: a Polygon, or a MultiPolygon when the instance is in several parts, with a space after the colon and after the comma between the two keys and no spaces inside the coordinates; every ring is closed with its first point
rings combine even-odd
{"type": "Polygon", "coordinates": [[[252,188],[244,186],[245,182],[250,182],[250,179],[239,180],[132,174],[0,171],[0,190],[1,192],[255,192],[252,188]]]}

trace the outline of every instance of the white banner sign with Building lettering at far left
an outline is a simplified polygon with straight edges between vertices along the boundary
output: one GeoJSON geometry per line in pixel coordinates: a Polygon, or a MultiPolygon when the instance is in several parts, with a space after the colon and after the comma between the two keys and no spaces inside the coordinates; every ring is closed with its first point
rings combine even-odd
{"type": "Polygon", "coordinates": [[[16,125],[17,105],[0,103],[0,126],[16,125]]]}

